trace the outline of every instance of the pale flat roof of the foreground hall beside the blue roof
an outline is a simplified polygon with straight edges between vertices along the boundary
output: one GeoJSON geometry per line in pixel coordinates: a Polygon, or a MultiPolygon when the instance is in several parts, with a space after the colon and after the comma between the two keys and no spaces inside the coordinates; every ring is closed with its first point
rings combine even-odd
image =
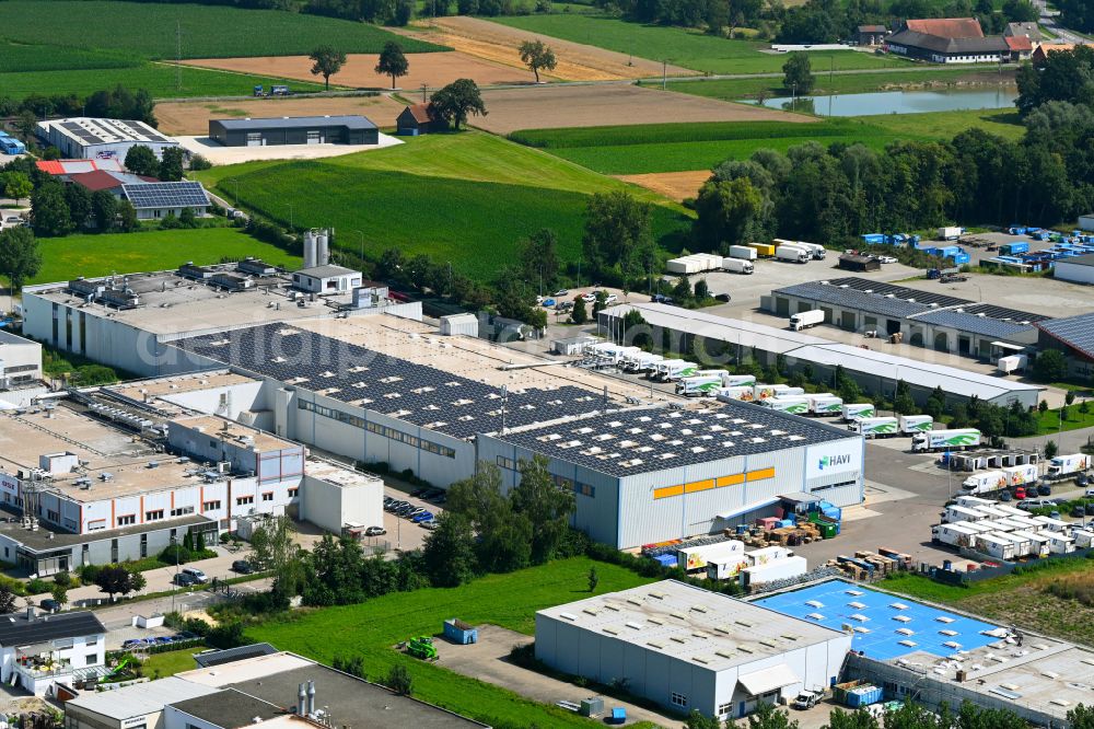
{"type": "Polygon", "coordinates": [[[548,608],[540,615],[710,671],[841,637],[837,629],[676,580],[548,608]]]}

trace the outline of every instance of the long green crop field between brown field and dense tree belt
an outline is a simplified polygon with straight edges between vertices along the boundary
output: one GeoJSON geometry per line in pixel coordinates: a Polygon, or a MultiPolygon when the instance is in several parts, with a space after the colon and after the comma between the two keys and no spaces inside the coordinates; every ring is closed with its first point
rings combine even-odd
{"type": "Polygon", "coordinates": [[[888,114],[823,119],[815,124],[713,121],[515,131],[510,138],[608,175],[709,170],[760,148],[787,151],[808,140],[828,146],[860,142],[881,150],[898,139],[951,139],[980,127],[1010,139],[1024,128],[1008,109],[888,114]]]}

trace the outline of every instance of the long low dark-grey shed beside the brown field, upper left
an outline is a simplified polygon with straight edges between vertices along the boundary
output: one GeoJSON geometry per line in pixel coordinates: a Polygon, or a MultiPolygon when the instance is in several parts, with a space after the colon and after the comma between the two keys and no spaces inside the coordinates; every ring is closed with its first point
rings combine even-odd
{"type": "Polygon", "coordinates": [[[349,114],[209,119],[209,137],[224,147],[379,144],[380,129],[368,118],[349,114]]]}

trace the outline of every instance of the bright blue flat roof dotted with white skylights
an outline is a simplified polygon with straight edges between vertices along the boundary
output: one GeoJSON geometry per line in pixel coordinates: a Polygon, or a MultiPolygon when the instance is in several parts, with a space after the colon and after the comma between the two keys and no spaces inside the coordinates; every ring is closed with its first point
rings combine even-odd
{"type": "Polygon", "coordinates": [[[866,658],[882,661],[916,651],[945,658],[957,650],[944,645],[946,643],[956,643],[961,650],[973,650],[999,640],[984,635],[985,630],[996,629],[997,626],[990,623],[842,580],[782,592],[756,600],[755,604],[836,630],[853,625],[858,629],[851,648],[862,651],[866,658]],[[814,604],[808,605],[806,601],[814,604]],[[861,606],[852,608],[849,603],[861,606]],[[897,630],[910,630],[910,634],[897,630]],[[955,635],[943,635],[941,630],[955,635]],[[901,641],[915,645],[900,645],[901,641]]]}

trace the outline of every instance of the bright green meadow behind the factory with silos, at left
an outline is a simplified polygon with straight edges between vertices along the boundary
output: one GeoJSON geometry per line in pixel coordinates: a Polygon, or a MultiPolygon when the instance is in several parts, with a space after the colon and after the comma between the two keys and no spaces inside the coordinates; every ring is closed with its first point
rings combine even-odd
{"type": "Polygon", "coordinates": [[[106,276],[115,271],[166,270],[187,261],[213,264],[221,258],[245,256],[256,256],[278,266],[300,264],[300,258],[234,228],[39,238],[38,250],[42,270],[30,284],[67,281],[77,276],[106,276]]]}

